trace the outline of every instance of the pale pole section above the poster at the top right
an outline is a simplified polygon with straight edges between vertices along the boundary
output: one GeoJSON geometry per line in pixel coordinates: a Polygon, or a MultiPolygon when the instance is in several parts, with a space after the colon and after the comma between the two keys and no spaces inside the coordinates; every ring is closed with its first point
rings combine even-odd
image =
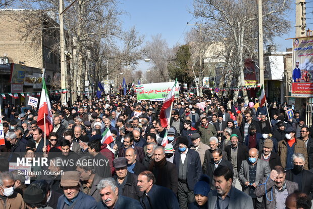
{"type": "Polygon", "coordinates": [[[305,36],[305,0],[296,0],[296,37],[305,36]]]}

